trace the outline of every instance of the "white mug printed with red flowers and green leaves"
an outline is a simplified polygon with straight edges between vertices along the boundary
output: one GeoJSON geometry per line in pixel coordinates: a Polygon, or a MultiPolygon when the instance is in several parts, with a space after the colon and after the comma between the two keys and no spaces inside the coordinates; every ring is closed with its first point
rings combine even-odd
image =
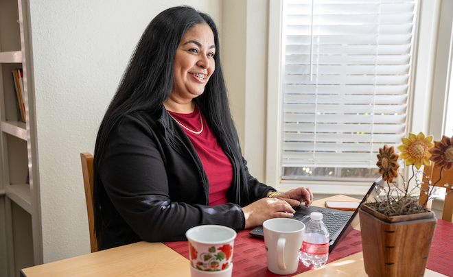
{"type": "Polygon", "coordinates": [[[233,269],[235,230],[220,225],[202,225],[185,233],[189,241],[192,277],[229,277],[233,269]]]}

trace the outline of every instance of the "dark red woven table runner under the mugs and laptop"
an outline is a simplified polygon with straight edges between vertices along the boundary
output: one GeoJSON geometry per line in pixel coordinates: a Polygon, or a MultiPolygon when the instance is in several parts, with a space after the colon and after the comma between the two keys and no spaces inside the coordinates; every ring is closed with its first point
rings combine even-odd
{"type": "MultiPolygon", "coordinates": [[[[263,239],[251,237],[250,230],[242,230],[237,233],[233,250],[233,276],[280,276],[268,270],[266,261],[266,248],[263,239]]],[[[187,241],[165,242],[165,245],[172,250],[189,258],[187,241]]],[[[329,254],[327,263],[332,263],[340,258],[345,258],[352,254],[362,251],[362,238],[360,231],[352,230],[336,248],[329,254]]],[[[294,276],[313,267],[305,267],[299,263],[297,272],[294,276]]],[[[437,221],[434,239],[432,240],[430,256],[428,259],[428,269],[434,272],[453,277],[453,224],[439,219],[437,221]]]]}

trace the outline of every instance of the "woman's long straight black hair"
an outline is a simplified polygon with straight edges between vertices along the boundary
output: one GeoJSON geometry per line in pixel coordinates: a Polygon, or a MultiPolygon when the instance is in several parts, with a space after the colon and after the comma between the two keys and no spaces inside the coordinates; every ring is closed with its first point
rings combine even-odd
{"type": "Polygon", "coordinates": [[[229,109],[227,88],[220,63],[220,44],[216,24],[209,15],[193,8],[187,6],[170,8],[158,14],[146,27],[97,133],[93,161],[93,205],[98,242],[102,238],[100,198],[101,195],[105,195],[99,169],[108,135],[116,123],[132,112],[162,111],[163,102],[170,97],[174,86],[173,67],[176,49],[185,32],[197,24],[207,24],[212,29],[216,45],[214,56],[216,70],[207,82],[205,92],[194,101],[205,115],[220,145],[229,147],[235,160],[241,165],[243,195],[246,199],[250,195],[242,164],[242,154],[238,147],[237,133],[229,109]]]}

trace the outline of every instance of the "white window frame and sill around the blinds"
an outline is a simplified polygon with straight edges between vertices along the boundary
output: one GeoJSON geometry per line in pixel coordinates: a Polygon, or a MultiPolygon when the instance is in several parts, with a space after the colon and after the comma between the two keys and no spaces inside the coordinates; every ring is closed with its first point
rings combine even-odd
{"type": "MultiPolygon", "coordinates": [[[[277,184],[276,189],[279,191],[288,191],[299,186],[310,186],[314,193],[326,193],[328,191],[329,193],[363,195],[369,189],[370,182],[281,179],[281,60],[283,55],[281,27],[284,20],[282,16],[283,1],[269,1],[266,182],[277,184]]],[[[417,134],[418,132],[432,134],[435,140],[441,139],[441,134],[445,131],[448,108],[447,104],[444,103],[448,100],[450,82],[448,76],[451,74],[452,68],[452,51],[450,49],[453,46],[451,39],[453,38],[451,26],[453,15],[445,11],[451,10],[452,7],[449,6],[452,5],[452,3],[443,0],[434,0],[430,4],[420,1],[418,20],[415,26],[417,29],[414,38],[413,71],[410,76],[410,87],[412,89],[409,94],[406,129],[408,132],[416,132],[417,134]],[[442,5],[444,6],[442,7],[442,5]],[[445,59],[445,55],[450,58],[445,59]],[[433,93],[435,88],[437,88],[436,93],[433,93]],[[439,104],[443,106],[443,109],[438,108],[439,104]],[[433,120],[439,112],[441,112],[443,119],[440,121],[433,120]]],[[[408,172],[405,175],[408,176],[408,172]]]]}

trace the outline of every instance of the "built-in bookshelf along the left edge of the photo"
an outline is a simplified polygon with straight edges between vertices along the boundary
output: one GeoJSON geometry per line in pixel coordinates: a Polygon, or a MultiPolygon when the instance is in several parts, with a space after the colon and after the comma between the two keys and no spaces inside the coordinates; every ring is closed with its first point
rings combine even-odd
{"type": "Polygon", "coordinates": [[[29,10],[28,0],[0,0],[0,276],[8,277],[43,263],[29,10]],[[25,122],[14,69],[23,71],[25,122]]]}

